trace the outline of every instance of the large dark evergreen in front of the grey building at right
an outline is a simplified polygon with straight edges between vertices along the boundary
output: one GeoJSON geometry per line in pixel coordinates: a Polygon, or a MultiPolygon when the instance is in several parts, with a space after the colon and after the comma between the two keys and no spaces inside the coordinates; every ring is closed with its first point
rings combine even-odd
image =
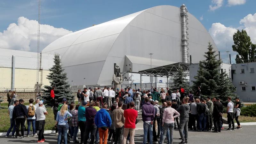
{"type": "Polygon", "coordinates": [[[228,74],[220,73],[222,61],[216,59],[215,52],[209,42],[208,52],[205,52],[204,55],[206,60],[199,62],[199,69],[197,76],[194,77],[196,80],[193,81],[192,89],[196,91],[197,87],[200,86],[201,97],[219,97],[223,105],[227,105],[229,96],[235,100],[236,94],[233,93],[235,88],[229,80],[228,74]]]}

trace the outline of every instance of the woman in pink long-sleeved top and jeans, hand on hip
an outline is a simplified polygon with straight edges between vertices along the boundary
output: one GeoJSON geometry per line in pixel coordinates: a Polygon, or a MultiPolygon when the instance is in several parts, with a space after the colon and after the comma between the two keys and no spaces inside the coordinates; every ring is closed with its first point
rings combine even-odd
{"type": "Polygon", "coordinates": [[[172,143],[173,141],[173,129],[174,129],[174,118],[180,116],[180,113],[177,112],[174,108],[171,108],[172,106],[172,102],[169,101],[167,103],[167,108],[164,109],[164,113],[163,113],[163,128],[164,128],[164,132],[163,132],[163,136],[162,136],[162,141],[161,143],[164,143],[164,138],[166,136],[166,132],[168,129],[170,129],[170,143],[172,143]],[[173,116],[173,114],[176,114],[175,116],[173,116]]]}

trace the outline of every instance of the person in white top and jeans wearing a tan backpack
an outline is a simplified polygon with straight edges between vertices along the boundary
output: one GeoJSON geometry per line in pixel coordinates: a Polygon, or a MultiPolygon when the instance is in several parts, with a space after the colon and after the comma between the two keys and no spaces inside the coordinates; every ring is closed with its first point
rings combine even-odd
{"type": "MultiPolygon", "coordinates": [[[[27,110],[29,109],[29,107],[34,108],[35,112],[36,112],[36,106],[33,105],[34,100],[30,99],[29,100],[29,105],[26,106],[27,110]]],[[[33,129],[33,137],[36,137],[36,113],[34,116],[29,116],[29,111],[28,111],[28,118],[27,118],[27,123],[28,123],[28,134],[27,137],[29,138],[29,132],[30,132],[30,125],[32,123],[32,129],[33,129]]]]}

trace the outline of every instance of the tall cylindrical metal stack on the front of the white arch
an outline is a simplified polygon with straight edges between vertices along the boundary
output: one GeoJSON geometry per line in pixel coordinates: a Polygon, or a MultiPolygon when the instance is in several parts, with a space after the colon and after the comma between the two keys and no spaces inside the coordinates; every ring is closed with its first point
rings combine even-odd
{"type": "Polygon", "coordinates": [[[188,48],[188,15],[187,15],[187,7],[185,6],[185,4],[182,4],[180,6],[181,8],[181,13],[180,16],[182,17],[182,46],[183,46],[183,55],[182,55],[182,62],[184,63],[189,63],[190,62],[190,54],[188,52],[189,48],[188,48]]]}

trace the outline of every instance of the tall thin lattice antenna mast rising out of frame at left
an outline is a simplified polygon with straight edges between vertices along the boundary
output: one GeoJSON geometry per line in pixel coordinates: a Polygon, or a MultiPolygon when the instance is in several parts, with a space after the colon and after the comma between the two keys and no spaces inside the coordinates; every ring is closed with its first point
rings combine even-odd
{"type": "Polygon", "coordinates": [[[38,28],[37,28],[37,67],[36,67],[36,92],[39,92],[39,60],[40,60],[40,52],[39,52],[39,39],[40,39],[40,8],[41,8],[41,0],[38,0],[38,28]]]}

